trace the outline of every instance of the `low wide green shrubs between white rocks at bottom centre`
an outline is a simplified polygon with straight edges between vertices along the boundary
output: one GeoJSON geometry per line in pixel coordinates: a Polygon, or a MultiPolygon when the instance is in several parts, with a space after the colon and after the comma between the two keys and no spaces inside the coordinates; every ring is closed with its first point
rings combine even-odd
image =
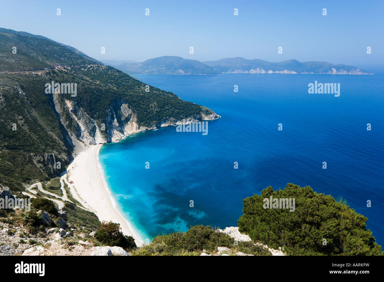
{"type": "Polygon", "coordinates": [[[134,256],[200,256],[205,249],[208,253],[217,252],[217,247],[231,249],[231,254],[269,256],[270,252],[251,242],[235,242],[225,233],[217,232],[211,226],[191,226],[186,232],[177,231],[169,235],[159,235],[152,239],[151,244],[138,248],[134,256]]]}

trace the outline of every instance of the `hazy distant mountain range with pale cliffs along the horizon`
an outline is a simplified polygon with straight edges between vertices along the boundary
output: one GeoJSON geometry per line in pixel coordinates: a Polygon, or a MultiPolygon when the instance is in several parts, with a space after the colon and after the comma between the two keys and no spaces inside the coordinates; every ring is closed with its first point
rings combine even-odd
{"type": "Polygon", "coordinates": [[[177,56],[162,56],[141,63],[134,61],[103,61],[103,63],[127,74],[205,74],[222,73],[301,73],[301,74],[373,74],[363,69],[344,64],[327,62],[299,62],[287,60],[268,62],[241,57],[224,58],[218,61],[200,62],[177,56]]]}

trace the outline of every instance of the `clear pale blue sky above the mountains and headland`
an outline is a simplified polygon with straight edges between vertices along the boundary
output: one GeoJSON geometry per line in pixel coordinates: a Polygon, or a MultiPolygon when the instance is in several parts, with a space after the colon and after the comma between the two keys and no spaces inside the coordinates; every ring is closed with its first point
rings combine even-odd
{"type": "Polygon", "coordinates": [[[46,36],[101,61],[243,57],[363,68],[384,65],[383,12],[382,0],[2,0],[0,27],[46,36]]]}

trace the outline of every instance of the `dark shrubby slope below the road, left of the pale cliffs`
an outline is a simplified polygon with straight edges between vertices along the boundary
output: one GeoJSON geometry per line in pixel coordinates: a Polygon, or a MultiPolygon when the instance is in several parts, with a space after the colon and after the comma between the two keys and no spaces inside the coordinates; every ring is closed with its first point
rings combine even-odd
{"type": "Polygon", "coordinates": [[[44,82],[38,75],[0,74],[0,184],[14,190],[53,177],[54,164],[64,168],[69,161],[58,120],[40,91],[44,82]]]}

